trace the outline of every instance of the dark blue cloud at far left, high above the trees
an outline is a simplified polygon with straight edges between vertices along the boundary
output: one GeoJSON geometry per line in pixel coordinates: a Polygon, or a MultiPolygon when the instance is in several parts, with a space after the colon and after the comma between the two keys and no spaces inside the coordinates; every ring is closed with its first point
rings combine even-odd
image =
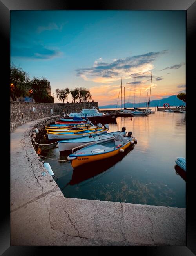
{"type": "Polygon", "coordinates": [[[54,49],[49,49],[42,45],[34,45],[31,48],[13,48],[11,51],[12,57],[25,59],[52,59],[62,55],[62,52],[54,49]]]}

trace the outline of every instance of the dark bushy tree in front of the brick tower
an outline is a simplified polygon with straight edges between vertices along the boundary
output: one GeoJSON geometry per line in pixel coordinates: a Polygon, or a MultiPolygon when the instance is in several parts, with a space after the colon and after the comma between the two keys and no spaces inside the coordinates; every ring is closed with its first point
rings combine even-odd
{"type": "Polygon", "coordinates": [[[48,83],[49,81],[46,78],[34,78],[31,80],[31,89],[33,90],[32,97],[36,102],[51,102],[51,98],[46,90],[48,83]]]}

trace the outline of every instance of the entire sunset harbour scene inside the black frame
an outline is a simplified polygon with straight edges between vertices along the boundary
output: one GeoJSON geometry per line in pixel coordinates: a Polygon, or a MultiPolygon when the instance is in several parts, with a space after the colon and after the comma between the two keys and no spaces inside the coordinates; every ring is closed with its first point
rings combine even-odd
{"type": "Polygon", "coordinates": [[[12,247],[186,247],[186,17],[11,11],[12,247]]]}

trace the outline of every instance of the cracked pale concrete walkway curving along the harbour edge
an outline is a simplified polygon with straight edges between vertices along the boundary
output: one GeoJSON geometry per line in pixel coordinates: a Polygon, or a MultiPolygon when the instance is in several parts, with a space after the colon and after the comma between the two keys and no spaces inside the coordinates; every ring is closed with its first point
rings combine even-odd
{"type": "Polygon", "coordinates": [[[31,121],[11,133],[11,246],[186,245],[186,210],[65,198],[34,151],[31,121]]]}

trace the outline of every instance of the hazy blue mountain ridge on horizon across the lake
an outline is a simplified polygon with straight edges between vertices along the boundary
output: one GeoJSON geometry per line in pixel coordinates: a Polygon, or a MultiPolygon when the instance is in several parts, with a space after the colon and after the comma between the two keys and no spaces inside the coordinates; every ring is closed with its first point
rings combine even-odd
{"type": "MultiPolygon", "coordinates": [[[[150,102],[150,107],[156,107],[156,106],[160,106],[160,108],[163,107],[164,103],[169,103],[170,106],[181,106],[181,104],[183,104],[182,100],[179,100],[177,97],[177,95],[172,95],[169,96],[168,98],[162,98],[161,100],[152,100],[150,102]]],[[[146,102],[141,102],[139,103],[135,103],[135,107],[138,108],[143,108],[146,106],[146,102]]],[[[99,108],[120,108],[120,105],[113,104],[113,105],[105,105],[105,106],[99,106],[99,108]]],[[[124,103],[122,104],[122,108],[124,108],[124,103]]],[[[125,103],[125,108],[133,108],[133,103],[131,102],[127,102],[125,103]]]]}

